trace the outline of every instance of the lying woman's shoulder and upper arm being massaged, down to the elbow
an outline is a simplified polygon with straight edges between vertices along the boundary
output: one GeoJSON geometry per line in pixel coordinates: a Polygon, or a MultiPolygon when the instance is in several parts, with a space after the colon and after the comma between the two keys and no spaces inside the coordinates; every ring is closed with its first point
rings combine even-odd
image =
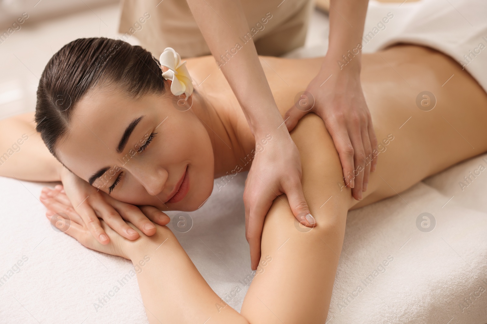
{"type": "Polygon", "coordinates": [[[317,226],[300,225],[285,195],[274,201],[262,232],[262,257],[242,314],[251,323],[324,323],[345,233],[350,188],[323,121],[305,116],[292,132],[302,185],[317,226]],[[342,183],[342,186],[339,184],[342,183]]]}

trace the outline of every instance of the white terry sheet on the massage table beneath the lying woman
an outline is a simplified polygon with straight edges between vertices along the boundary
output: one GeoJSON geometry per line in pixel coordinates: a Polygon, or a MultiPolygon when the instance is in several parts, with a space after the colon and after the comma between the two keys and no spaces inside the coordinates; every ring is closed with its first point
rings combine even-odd
{"type": "MultiPolygon", "coordinates": [[[[484,159],[487,154],[427,179],[402,198],[349,212],[327,323],[487,322],[487,171],[463,192],[458,184],[479,164],[487,167],[484,159]],[[416,227],[423,212],[437,222],[429,233],[416,227]],[[362,280],[388,256],[393,261],[385,272],[365,286],[362,280]],[[359,285],[363,291],[354,292],[359,285]]],[[[193,227],[176,232],[210,286],[237,309],[251,275],[244,176],[221,191],[215,186],[206,204],[188,213],[193,227]],[[238,288],[242,291],[233,293],[238,288]]],[[[28,258],[0,287],[1,323],[148,323],[136,277],[123,287],[118,282],[130,276],[131,263],[56,232],[36,198],[41,187],[0,177],[0,275],[28,258]],[[115,285],[120,290],[102,305],[98,299],[115,285]]]]}

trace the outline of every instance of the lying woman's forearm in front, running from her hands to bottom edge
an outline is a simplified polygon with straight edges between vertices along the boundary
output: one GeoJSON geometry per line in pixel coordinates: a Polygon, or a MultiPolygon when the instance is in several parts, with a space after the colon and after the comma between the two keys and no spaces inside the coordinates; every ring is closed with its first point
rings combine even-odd
{"type": "Polygon", "coordinates": [[[149,322],[248,323],[211,290],[169,228],[156,227],[128,244],[149,322]]]}

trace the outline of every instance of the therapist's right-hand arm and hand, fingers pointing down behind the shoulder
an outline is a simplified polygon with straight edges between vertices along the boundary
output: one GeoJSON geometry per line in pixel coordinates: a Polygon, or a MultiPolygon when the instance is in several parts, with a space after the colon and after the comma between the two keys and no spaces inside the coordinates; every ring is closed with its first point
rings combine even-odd
{"type": "Polygon", "coordinates": [[[377,139],[360,85],[362,35],[368,0],[330,0],[328,52],[307,87],[300,109],[286,113],[291,131],[308,112],[324,121],[340,156],[347,187],[356,200],[377,163],[377,139]],[[312,107],[313,106],[313,107],[312,107]]]}

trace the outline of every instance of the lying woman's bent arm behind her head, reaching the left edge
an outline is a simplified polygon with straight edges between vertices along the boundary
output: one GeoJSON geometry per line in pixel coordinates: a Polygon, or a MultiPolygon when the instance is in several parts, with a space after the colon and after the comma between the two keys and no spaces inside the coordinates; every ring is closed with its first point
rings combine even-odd
{"type": "Polygon", "coordinates": [[[34,112],[0,120],[0,176],[60,181],[63,166],[35,129],[34,112]]]}

